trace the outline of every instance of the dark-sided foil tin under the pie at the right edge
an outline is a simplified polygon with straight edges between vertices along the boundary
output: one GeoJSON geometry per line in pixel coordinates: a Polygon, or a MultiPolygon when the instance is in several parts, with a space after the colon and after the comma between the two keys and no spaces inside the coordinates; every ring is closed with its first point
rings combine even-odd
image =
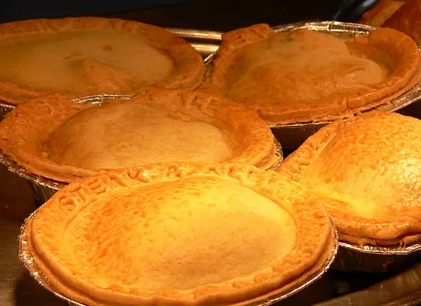
{"type": "Polygon", "coordinates": [[[421,260],[421,243],[406,246],[360,246],[339,241],[334,270],[391,272],[409,268],[421,260]]]}

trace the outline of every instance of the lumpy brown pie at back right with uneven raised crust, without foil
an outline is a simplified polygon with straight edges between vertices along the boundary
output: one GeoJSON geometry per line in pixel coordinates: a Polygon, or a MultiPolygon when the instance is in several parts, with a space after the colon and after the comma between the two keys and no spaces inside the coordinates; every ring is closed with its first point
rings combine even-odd
{"type": "Polygon", "coordinates": [[[391,29],[343,40],[310,30],[275,33],[259,24],[222,36],[204,91],[255,111],[270,124],[352,116],[389,102],[420,80],[420,54],[391,29]]]}

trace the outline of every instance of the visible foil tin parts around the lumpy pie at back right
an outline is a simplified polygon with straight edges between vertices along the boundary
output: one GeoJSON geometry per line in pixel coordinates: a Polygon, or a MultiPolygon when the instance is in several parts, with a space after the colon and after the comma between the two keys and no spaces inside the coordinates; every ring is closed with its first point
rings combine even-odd
{"type": "MultiPolygon", "coordinates": [[[[369,25],[360,25],[356,23],[341,23],[338,21],[319,21],[319,22],[310,22],[310,23],[292,23],[289,25],[279,25],[273,27],[275,32],[292,32],[297,29],[312,30],[316,32],[332,34],[339,38],[354,38],[361,34],[367,34],[374,30],[376,27],[371,27],[369,25]]],[[[421,51],[421,47],[420,47],[421,51]]],[[[206,65],[209,67],[207,73],[208,75],[212,73],[210,64],[215,58],[215,54],[210,54],[205,59],[206,65]]],[[[391,100],[380,106],[374,108],[369,108],[361,113],[367,113],[374,110],[382,110],[385,112],[396,112],[400,108],[404,108],[409,104],[421,99],[421,81],[418,82],[412,89],[403,93],[396,99],[391,100]]],[[[359,115],[356,114],[356,115],[359,115]]],[[[297,122],[281,125],[270,124],[273,134],[277,139],[282,143],[282,147],[286,150],[295,150],[298,148],[301,143],[305,141],[312,134],[317,132],[323,126],[331,123],[332,121],[317,121],[317,122],[297,122]]]]}

